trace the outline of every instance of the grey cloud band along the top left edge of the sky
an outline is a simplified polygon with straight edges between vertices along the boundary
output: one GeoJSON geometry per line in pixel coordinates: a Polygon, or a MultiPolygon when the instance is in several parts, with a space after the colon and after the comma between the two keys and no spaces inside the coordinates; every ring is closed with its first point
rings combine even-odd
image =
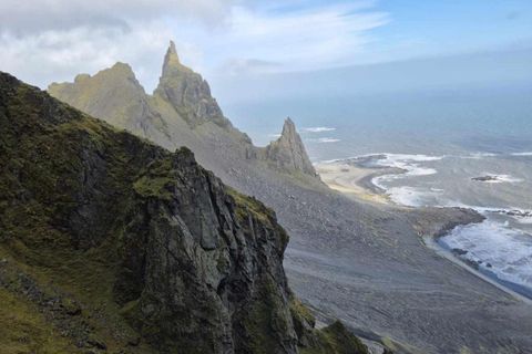
{"type": "Polygon", "coordinates": [[[218,23],[233,0],[2,0],[0,30],[16,34],[78,27],[127,28],[130,21],[163,17],[218,23]]]}

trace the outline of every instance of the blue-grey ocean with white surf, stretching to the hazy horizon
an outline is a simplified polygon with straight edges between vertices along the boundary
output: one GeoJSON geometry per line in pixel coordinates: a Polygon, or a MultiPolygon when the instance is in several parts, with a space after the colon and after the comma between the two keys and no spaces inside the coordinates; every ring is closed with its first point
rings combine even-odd
{"type": "Polygon", "coordinates": [[[315,163],[366,156],[401,168],[372,180],[396,204],[478,210],[485,221],[439,244],[532,298],[532,86],[287,98],[226,114],[259,145],[289,115],[315,163]]]}

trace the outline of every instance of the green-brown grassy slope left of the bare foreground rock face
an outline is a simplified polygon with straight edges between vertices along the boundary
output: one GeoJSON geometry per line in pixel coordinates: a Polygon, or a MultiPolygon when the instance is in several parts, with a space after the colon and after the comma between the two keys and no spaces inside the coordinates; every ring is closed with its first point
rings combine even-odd
{"type": "MultiPolygon", "coordinates": [[[[123,315],[126,306],[114,302],[113,284],[125,222],[121,211],[135,208],[134,192],[168,197],[164,171],[170,153],[52,102],[33,87],[17,83],[14,91],[6,92],[7,83],[0,84],[2,95],[10,96],[4,100],[8,106],[0,105],[2,353],[82,353],[88,348],[153,353],[123,315]],[[108,219],[86,226],[86,235],[73,236],[68,232],[69,218],[83,197],[88,178],[79,171],[86,167],[86,150],[95,152],[105,166],[100,171],[94,168],[101,174],[98,190],[109,196],[99,199],[108,219]],[[140,162],[150,159],[154,160],[150,174],[140,176],[144,168],[140,162]],[[86,243],[91,227],[101,227],[93,233],[108,237],[86,243]]],[[[262,204],[231,194],[238,210],[264,218],[262,204]]],[[[298,309],[304,311],[301,305],[298,309]]],[[[257,311],[267,315],[267,309],[257,311]]],[[[342,326],[309,331],[313,346],[304,353],[364,353],[342,326]]]]}

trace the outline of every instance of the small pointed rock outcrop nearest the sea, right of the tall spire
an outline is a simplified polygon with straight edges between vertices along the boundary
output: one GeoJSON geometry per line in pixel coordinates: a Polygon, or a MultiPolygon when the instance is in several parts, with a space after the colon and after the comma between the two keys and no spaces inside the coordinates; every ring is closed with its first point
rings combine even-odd
{"type": "Polygon", "coordinates": [[[286,118],[280,137],[266,146],[265,156],[283,170],[303,171],[316,176],[301,137],[297,134],[296,126],[290,118],[286,118]]]}

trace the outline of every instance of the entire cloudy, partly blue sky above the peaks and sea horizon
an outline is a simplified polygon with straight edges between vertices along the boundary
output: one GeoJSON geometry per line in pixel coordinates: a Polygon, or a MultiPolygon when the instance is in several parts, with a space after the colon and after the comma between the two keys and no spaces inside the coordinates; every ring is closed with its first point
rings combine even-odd
{"type": "Polygon", "coordinates": [[[224,91],[235,77],[528,51],[532,1],[0,1],[0,71],[43,88],[122,61],[151,92],[170,40],[224,91]]]}

